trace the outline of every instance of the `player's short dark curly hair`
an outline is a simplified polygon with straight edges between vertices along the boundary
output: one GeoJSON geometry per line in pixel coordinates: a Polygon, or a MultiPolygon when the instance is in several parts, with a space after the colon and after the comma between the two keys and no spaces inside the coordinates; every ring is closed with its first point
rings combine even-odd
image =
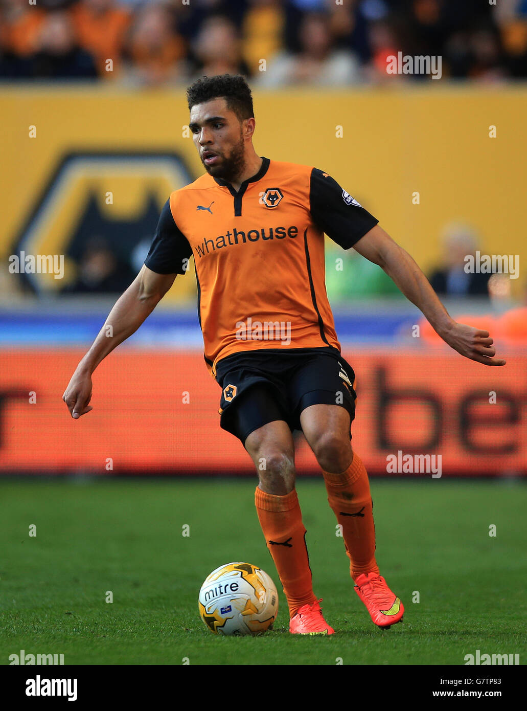
{"type": "Polygon", "coordinates": [[[254,118],[251,89],[239,74],[219,74],[195,80],[187,89],[188,109],[220,97],[227,100],[227,108],[234,111],[240,121],[254,118]]]}

